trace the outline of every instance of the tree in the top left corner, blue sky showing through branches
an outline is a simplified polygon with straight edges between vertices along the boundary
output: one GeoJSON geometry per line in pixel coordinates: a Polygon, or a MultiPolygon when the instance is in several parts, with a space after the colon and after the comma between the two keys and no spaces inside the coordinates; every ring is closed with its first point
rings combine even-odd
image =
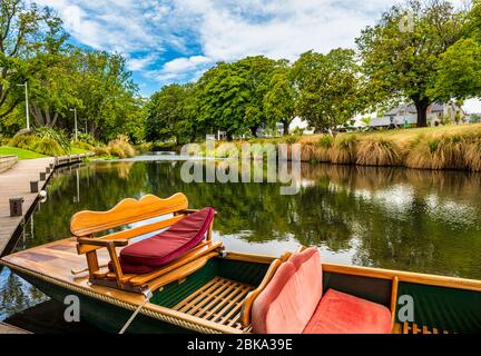
{"type": "Polygon", "coordinates": [[[39,9],[22,0],[0,3],[0,118],[23,101],[18,83],[55,62],[67,39],[61,20],[48,8],[39,9]]]}

